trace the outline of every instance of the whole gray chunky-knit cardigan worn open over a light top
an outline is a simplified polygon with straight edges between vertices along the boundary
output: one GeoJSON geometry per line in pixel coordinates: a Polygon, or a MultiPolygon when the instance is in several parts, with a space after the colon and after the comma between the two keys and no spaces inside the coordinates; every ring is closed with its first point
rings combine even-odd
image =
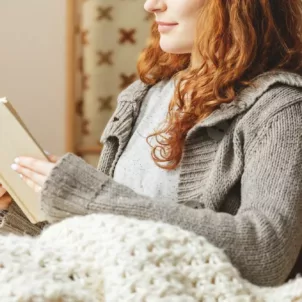
{"type": "MultiPolygon", "coordinates": [[[[284,282],[302,245],[302,77],[268,72],[254,84],[189,131],[175,203],[112,179],[149,89],[135,82],[119,95],[97,169],[71,153],[57,162],[41,192],[48,220],[93,212],[160,220],[205,236],[250,281],[284,282]]],[[[33,235],[41,227],[15,204],[2,224],[33,235]]]]}

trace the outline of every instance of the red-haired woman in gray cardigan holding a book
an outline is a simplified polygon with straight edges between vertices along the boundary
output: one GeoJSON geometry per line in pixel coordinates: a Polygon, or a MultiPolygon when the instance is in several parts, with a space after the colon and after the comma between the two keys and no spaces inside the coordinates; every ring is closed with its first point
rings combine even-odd
{"type": "MultiPolygon", "coordinates": [[[[119,95],[98,169],[71,153],[13,168],[41,187],[49,222],[102,212],[178,225],[222,248],[251,282],[280,284],[298,272],[302,245],[302,3],[145,9],[156,22],[141,81],[119,95]]],[[[41,231],[9,203],[3,232],[41,231]]]]}

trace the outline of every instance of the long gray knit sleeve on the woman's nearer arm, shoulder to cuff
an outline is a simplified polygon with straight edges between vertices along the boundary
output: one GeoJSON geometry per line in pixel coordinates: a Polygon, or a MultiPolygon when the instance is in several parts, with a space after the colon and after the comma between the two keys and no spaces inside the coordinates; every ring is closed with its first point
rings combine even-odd
{"type": "MultiPolygon", "coordinates": [[[[236,215],[151,199],[67,153],[41,192],[50,221],[94,212],[177,225],[222,248],[242,276],[263,286],[286,280],[302,242],[302,110],[290,106],[255,135],[236,215]]],[[[227,202],[227,201],[226,201],[227,202]]]]}

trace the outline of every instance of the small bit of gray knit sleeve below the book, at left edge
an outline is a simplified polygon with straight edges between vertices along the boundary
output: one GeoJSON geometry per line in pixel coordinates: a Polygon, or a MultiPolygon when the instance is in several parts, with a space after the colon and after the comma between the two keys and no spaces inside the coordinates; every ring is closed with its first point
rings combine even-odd
{"type": "Polygon", "coordinates": [[[32,224],[15,202],[8,210],[0,211],[0,234],[37,236],[46,225],[46,222],[32,224]]]}

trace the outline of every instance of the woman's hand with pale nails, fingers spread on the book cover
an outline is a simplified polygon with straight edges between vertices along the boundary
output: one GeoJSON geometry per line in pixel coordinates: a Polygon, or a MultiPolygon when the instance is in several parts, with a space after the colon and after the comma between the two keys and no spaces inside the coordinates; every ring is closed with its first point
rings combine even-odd
{"type": "Polygon", "coordinates": [[[59,158],[48,155],[50,162],[32,157],[20,156],[15,159],[11,168],[15,170],[25,183],[36,192],[40,192],[51,170],[59,158]]]}

